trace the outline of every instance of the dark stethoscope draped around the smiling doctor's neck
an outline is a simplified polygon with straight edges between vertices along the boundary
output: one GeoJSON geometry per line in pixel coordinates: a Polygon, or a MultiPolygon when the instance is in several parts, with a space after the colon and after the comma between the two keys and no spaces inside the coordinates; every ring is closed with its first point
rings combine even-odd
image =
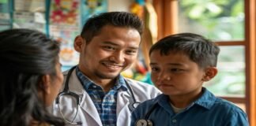
{"type": "MultiPolygon", "coordinates": [[[[63,89],[62,92],[60,92],[60,93],[58,94],[58,96],[57,96],[57,98],[56,98],[56,101],[55,101],[56,104],[58,105],[58,109],[59,109],[59,111],[60,111],[60,113],[61,113],[61,115],[62,115],[63,120],[65,120],[66,123],[68,123],[68,124],[82,124],[81,121],[73,122],[73,120],[76,119],[77,113],[78,113],[78,109],[80,108],[80,104],[81,104],[81,95],[77,95],[76,93],[70,91],[70,87],[69,87],[69,81],[70,81],[71,73],[73,72],[74,69],[76,69],[76,67],[77,67],[76,65],[73,66],[73,67],[70,69],[70,71],[68,72],[68,74],[67,74],[67,76],[66,76],[66,82],[65,82],[65,85],[64,85],[64,89],[63,89]],[[59,98],[60,98],[61,96],[64,96],[64,95],[69,95],[69,96],[75,98],[75,100],[76,100],[76,102],[77,102],[77,112],[76,112],[75,116],[73,117],[73,120],[71,120],[71,121],[70,121],[70,120],[66,120],[66,118],[64,117],[64,115],[63,115],[63,113],[62,113],[62,110],[60,109],[60,106],[59,106],[59,98]]],[[[132,111],[134,111],[134,109],[137,107],[137,105],[140,104],[141,102],[137,102],[137,101],[136,101],[136,98],[135,98],[135,96],[134,96],[134,91],[133,91],[132,88],[130,87],[130,84],[129,84],[126,80],[125,80],[125,83],[126,83],[126,86],[127,86],[128,90],[130,91],[130,94],[131,94],[131,97],[132,97],[132,98],[129,99],[129,102],[130,102],[130,101],[131,101],[131,102],[130,102],[129,105],[128,105],[128,108],[130,109],[130,112],[132,112],[132,111]]]]}

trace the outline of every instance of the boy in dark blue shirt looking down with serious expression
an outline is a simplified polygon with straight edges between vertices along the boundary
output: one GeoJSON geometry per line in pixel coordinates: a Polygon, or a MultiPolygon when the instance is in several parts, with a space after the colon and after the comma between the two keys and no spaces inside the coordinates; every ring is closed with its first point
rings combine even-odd
{"type": "Polygon", "coordinates": [[[152,82],[162,95],[141,103],[131,125],[247,126],[246,113],[202,84],[216,76],[220,49],[201,35],[160,39],[149,50],[152,82]]]}

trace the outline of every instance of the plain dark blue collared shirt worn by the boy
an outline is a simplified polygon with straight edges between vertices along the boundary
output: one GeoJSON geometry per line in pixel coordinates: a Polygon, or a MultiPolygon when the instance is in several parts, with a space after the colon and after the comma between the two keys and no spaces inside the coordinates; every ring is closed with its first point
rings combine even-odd
{"type": "Polygon", "coordinates": [[[203,94],[180,113],[174,113],[167,95],[141,103],[132,113],[131,126],[139,119],[145,119],[152,109],[149,119],[155,126],[249,126],[247,114],[242,109],[216,98],[203,87],[203,94]],[[152,109],[152,106],[155,106],[152,109]]]}

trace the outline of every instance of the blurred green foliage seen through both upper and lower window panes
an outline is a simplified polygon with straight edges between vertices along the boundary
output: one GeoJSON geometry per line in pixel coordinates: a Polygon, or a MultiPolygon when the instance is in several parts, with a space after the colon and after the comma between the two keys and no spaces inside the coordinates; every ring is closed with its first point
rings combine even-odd
{"type": "MultiPolygon", "coordinates": [[[[179,0],[179,32],[213,41],[244,39],[243,0],[179,0]]],[[[216,95],[245,95],[243,46],[220,46],[217,76],[205,84],[216,95]]]]}

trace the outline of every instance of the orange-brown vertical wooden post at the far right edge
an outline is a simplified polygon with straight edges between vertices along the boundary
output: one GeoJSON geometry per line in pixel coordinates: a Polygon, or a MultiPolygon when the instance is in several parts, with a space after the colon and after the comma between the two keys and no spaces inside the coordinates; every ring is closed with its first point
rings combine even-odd
{"type": "Polygon", "coordinates": [[[246,98],[250,126],[256,126],[256,2],[245,0],[246,98]]]}

